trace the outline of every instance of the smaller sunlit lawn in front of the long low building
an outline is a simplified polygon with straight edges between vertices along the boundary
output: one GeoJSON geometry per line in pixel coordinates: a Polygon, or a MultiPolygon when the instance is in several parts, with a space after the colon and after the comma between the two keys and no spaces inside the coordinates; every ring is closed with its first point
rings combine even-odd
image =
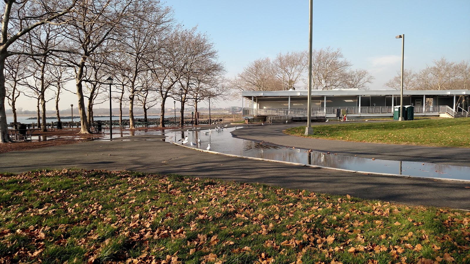
{"type": "MultiPolygon", "coordinates": [[[[284,131],[306,137],[305,126],[284,131]]],[[[312,138],[470,148],[470,118],[314,125],[312,138]]]]}

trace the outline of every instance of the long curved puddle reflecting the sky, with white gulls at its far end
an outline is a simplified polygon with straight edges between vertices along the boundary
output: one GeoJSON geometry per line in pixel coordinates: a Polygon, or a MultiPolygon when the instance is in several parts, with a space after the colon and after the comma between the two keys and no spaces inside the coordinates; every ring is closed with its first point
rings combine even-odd
{"type": "MultiPolygon", "coordinates": [[[[422,178],[444,178],[470,180],[470,167],[453,166],[436,163],[390,161],[380,159],[360,158],[348,155],[334,155],[306,149],[292,149],[260,144],[250,140],[232,137],[231,131],[235,128],[226,128],[222,132],[208,132],[208,130],[193,132],[163,132],[167,135],[166,141],[177,141],[188,136],[186,146],[205,150],[211,144],[211,150],[240,156],[250,156],[270,160],[287,161],[319,165],[325,167],[346,169],[352,171],[368,171],[377,173],[390,173],[410,175],[422,178]],[[200,139],[201,142],[197,143],[200,139]],[[190,142],[196,143],[191,146],[190,142]]],[[[179,141],[180,143],[181,141],[179,141]]]]}

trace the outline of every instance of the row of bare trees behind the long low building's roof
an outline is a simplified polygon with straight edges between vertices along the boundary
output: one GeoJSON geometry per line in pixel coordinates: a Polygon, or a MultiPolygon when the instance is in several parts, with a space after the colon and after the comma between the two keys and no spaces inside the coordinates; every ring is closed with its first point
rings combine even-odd
{"type": "MultiPolygon", "coordinates": [[[[403,88],[407,90],[468,89],[470,64],[468,61],[449,62],[442,57],[434,65],[415,72],[404,70],[403,88]]],[[[352,62],[344,58],[340,48],[331,47],[312,52],[312,89],[367,90],[375,79],[367,70],[352,69],[352,62]]],[[[306,89],[308,52],[279,53],[274,59],[261,58],[249,63],[231,80],[238,91],[279,91],[306,89]]],[[[385,88],[401,88],[401,70],[384,84],[385,88]]]]}

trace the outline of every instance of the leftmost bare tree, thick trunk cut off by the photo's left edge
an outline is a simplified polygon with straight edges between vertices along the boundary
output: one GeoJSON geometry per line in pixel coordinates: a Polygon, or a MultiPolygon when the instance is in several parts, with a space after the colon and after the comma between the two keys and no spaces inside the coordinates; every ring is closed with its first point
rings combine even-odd
{"type": "Polygon", "coordinates": [[[34,28],[55,21],[67,14],[75,6],[77,0],[16,1],[4,0],[4,13],[1,20],[0,39],[0,143],[11,142],[8,136],[7,115],[5,112],[5,60],[8,56],[23,54],[19,50],[11,50],[12,44],[24,37],[34,28]],[[30,21],[27,26],[23,22],[30,21]]]}

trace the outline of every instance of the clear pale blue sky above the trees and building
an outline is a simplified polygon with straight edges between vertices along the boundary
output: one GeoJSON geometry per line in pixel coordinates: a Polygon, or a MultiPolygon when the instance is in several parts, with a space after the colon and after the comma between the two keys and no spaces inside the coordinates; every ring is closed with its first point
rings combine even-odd
{"type": "MultiPolygon", "coordinates": [[[[165,5],[185,27],[197,26],[209,36],[227,77],[259,58],[308,49],[309,0],[170,0],[165,5]]],[[[469,0],[314,0],[313,48],[340,48],[352,69],[375,77],[369,89],[385,89],[401,67],[396,35],[405,35],[405,69],[419,71],[441,57],[470,60],[469,13],[469,0]]],[[[61,97],[59,108],[76,101],[75,95],[61,97]]],[[[32,110],[34,101],[23,98],[20,106],[32,110]]],[[[216,106],[241,106],[241,99],[216,106]]]]}

